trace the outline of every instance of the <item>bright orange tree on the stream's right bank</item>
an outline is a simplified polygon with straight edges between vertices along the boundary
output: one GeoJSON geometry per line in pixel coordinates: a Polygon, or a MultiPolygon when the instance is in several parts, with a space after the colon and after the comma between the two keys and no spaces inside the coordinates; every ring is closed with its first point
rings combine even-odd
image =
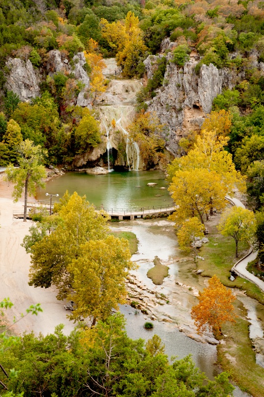
{"type": "Polygon", "coordinates": [[[226,322],[235,323],[234,306],[236,297],[214,275],[209,280],[209,286],[199,292],[199,303],[192,308],[197,331],[201,334],[209,329],[214,334],[222,334],[221,327],[226,322]]]}

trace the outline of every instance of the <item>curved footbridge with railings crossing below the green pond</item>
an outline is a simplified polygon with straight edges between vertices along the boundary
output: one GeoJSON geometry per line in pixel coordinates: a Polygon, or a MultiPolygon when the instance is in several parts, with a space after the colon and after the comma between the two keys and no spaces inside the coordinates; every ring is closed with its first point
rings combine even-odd
{"type": "MultiPolygon", "coordinates": [[[[36,200],[32,202],[28,202],[28,214],[31,211],[31,208],[38,207],[46,207],[50,210],[50,200],[36,200]]],[[[52,204],[53,209],[53,204],[52,204]]],[[[164,218],[170,214],[172,214],[176,210],[176,206],[173,202],[166,205],[149,205],[144,207],[135,207],[132,209],[129,208],[111,208],[104,207],[101,205],[100,207],[96,207],[97,211],[104,210],[110,216],[111,219],[118,220],[131,220],[137,218],[143,219],[151,219],[151,218],[164,218]]],[[[21,211],[13,211],[14,218],[23,218],[23,214],[19,213],[21,211]]]]}

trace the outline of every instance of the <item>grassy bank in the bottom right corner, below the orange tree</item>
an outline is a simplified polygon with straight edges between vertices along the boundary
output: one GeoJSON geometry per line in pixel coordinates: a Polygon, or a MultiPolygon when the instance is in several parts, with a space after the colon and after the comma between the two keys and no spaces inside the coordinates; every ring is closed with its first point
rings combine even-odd
{"type": "Polygon", "coordinates": [[[224,371],[243,392],[254,397],[264,396],[264,368],[256,364],[255,352],[249,338],[249,323],[242,317],[247,316],[247,310],[240,301],[234,303],[236,323],[226,323],[222,331],[227,337],[220,337],[225,344],[217,346],[218,362],[224,371]]]}

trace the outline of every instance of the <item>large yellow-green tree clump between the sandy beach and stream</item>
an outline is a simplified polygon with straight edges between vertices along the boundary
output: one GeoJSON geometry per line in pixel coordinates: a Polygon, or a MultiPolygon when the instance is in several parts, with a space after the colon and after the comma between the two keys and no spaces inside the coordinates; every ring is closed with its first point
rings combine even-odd
{"type": "Polygon", "coordinates": [[[66,192],[54,212],[51,234],[34,226],[23,240],[31,254],[29,284],[54,285],[58,299],[74,301],[70,317],[90,317],[94,325],[124,301],[125,277],[134,267],[128,241],[109,235],[106,212],[97,212],[76,192],[71,196],[66,192]]]}

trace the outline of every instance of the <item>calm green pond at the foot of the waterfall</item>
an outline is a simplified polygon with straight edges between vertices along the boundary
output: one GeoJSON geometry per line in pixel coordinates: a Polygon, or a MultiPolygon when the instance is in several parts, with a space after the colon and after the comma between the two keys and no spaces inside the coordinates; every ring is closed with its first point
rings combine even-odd
{"type": "MultiPolygon", "coordinates": [[[[45,193],[58,194],[65,191],[86,195],[87,200],[104,208],[131,210],[141,207],[171,206],[165,175],[161,171],[110,172],[106,175],[88,175],[85,172],[68,172],[50,180],[45,190],[37,191],[37,199],[47,199],[45,193]],[[157,183],[148,186],[149,182],[157,183]],[[161,190],[165,187],[166,190],[161,190]]],[[[56,198],[53,198],[55,201],[56,198]]]]}

